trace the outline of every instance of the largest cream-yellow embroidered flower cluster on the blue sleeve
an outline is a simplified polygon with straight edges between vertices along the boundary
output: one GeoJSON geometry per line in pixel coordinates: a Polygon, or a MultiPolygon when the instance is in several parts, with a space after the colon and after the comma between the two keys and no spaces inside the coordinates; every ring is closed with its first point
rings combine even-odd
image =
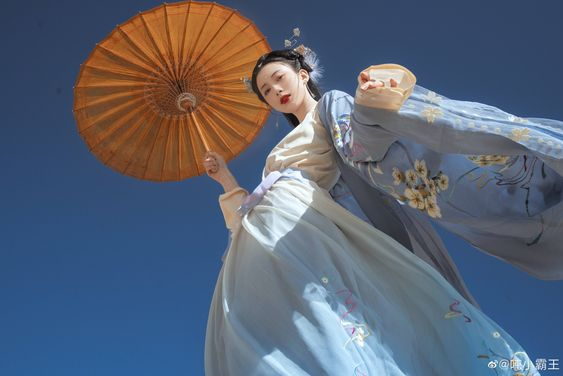
{"type": "Polygon", "coordinates": [[[397,167],[393,167],[392,176],[394,185],[406,184],[403,195],[392,193],[393,197],[408,203],[414,209],[426,210],[432,218],[442,217],[437,194],[448,189],[447,175],[439,171],[437,175],[430,177],[426,161],[417,159],[414,162],[414,169],[402,172],[397,167]]]}

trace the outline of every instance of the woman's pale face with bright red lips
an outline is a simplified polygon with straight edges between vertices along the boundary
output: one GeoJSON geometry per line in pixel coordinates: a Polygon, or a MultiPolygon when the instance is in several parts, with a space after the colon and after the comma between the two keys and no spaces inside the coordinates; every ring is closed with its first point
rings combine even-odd
{"type": "Polygon", "coordinates": [[[311,96],[306,87],[308,79],[309,73],[305,69],[298,74],[287,64],[276,61],[264,65],[256,76],[256,84],[274,110],[293,114],[306,96],[311,96]]]}

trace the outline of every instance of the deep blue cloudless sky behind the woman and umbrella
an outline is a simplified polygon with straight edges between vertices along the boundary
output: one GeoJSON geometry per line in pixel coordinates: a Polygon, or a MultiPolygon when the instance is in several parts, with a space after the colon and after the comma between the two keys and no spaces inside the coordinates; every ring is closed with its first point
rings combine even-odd
{"type": "MultiPolygon", "coordinates": [[[[398,63],[450,98],[563,120],[563,3],[222,1],[273,48],[294,27],[323,90],[398,63]]],[[[139,0],[6,3],[0,133],[0,375],[202,375],[209,304],[227,232],[207,176],[141,181],[80,138],[72,87],[95,43],[139,0]]],[[[229,163],[252,190],[290,130],[276,116],[229,163]]],[[[441,232],[483,310],[532,359],[563,359],[563,282],[541,281],[441,232]]],[[[546,371],[546,375],[558,374],[546,371]]]]}

